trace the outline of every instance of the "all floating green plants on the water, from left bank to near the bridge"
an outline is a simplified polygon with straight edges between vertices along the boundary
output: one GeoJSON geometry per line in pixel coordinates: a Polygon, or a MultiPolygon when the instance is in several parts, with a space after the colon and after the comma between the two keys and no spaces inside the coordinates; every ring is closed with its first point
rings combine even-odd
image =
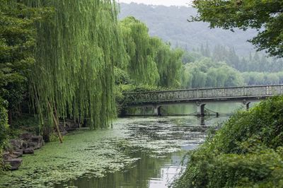
{"type": "Polygon", "coordinates": [[[63,144],[47,143],[34,155],[25,155],[20,170],[2,175],[0,187],[53,187],[79,177],[102,177],[132,167],[139,158],[129,155],[137,151],[164,158],[184,146],[195,148],[208,129],[196,125],[193,117],[118,119],[113,127],[75,131],[63,144]]]}

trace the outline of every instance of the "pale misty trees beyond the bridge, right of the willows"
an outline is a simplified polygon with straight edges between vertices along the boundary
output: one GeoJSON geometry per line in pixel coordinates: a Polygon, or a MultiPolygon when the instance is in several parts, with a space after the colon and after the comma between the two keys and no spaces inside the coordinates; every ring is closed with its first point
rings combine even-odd
{"type": "Polygon", "coordinates": [[[283,83],[282,59],[262,54],[240,57],[223,46],[201,45],[183,55],[182,88],[255,86],[283,83]]]}

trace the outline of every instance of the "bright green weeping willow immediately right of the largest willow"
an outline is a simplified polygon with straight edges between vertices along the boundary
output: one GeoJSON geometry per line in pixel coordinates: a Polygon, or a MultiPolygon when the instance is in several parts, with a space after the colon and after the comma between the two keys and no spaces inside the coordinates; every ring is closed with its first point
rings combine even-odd
{"type": "Polygon", "coordinates": [[[129,76],[135,84],[156,86],[159,75],[148,28],[134,17],[122,20],[120,27],[129,57],[127,66],[129,76]]]}

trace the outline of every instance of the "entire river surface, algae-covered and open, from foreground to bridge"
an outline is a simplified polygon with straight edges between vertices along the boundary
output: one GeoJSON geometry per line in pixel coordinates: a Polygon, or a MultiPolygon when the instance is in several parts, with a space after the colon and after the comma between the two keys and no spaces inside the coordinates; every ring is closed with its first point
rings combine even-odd
{"type": "Polygon", "coordinates": [[[0,187],[168,187],[184,169],[185,153],[226,119],[128,117],[112,129],[74,131],[63,144],[23,156],[20,170],[2,175],[0,187]]]}

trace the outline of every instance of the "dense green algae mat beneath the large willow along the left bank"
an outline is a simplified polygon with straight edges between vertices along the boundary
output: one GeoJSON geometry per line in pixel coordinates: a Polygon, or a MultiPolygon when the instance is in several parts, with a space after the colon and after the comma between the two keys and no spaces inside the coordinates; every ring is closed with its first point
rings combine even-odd
{"type": "Polygon", "coordinates": [[[0,187],[52,187],[82,175],[101,177],[121,170],[137,160],[116,146],[123,134],[121,129],[76,131],[63,144],[47,143],[34,155],[24,155],[19,170],[1,176],[0,187]]]}

